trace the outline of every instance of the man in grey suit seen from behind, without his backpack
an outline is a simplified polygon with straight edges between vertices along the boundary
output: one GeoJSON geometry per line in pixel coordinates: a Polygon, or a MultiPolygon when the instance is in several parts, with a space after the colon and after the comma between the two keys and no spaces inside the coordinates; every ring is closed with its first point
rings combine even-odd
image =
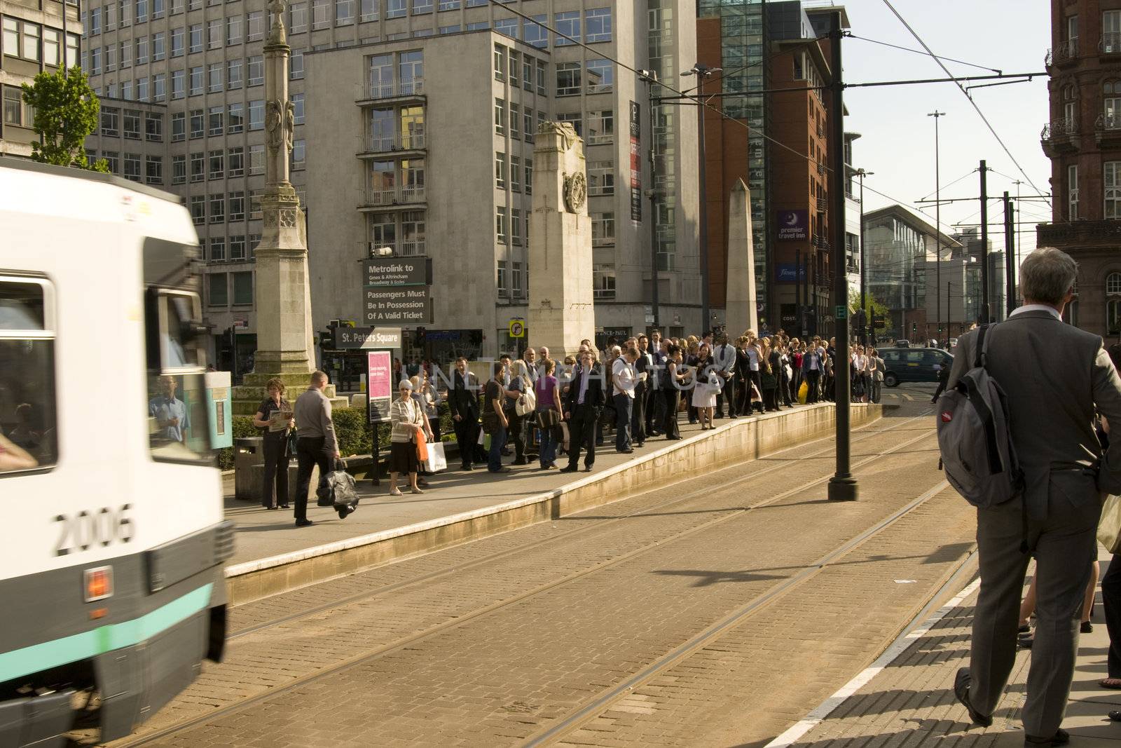
{"type": "MultiPolygon", "coordinates": [[[[954,692],[973,722],[989,726],[1016,659],[1016,629],[1029,554],[1036,557],[1036,639],[1023,704],[1025,746],[1062,746],[1102,493],[1121,492],[1121,438],[1102,454],[1096,408],[1121,424],[1121,379],[1097,335],[1064,324],[1077,266],[1037,249],[1020,268],[1025,306],[988,330],[989,373],[1008,395],[1022,496],[978,509],[981,593],[970,666],[954,692]],[[1025,514],[1026,512],[1026,514],[1025,514]],[[1027,523],[1027,538],[1023,524],[1027,523]]],[[[957,343],[948,387],[973,368],[976,332],[957,343]]]]}

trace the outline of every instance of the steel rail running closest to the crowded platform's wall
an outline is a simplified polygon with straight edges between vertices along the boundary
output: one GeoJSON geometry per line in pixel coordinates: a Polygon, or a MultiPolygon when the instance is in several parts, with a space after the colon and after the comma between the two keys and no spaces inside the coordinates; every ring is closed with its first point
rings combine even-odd
{"type": "MultiPolygon", "coordinates": [[[[877,436],[879,434],[882,434],[882,433],[884,433],[887,431],[900,430],[900,428],[907,426],[908,424],[910,424],[910,423],[912,423],[915,421],[919,421],[919,419],[926,418],[928,415],[929,415],[929,412],[927,410],[927,412],[924,412],[923,414],[920,414],[918,416],[914,416],[914,417],[907,418],[907,419],[905,419],[905,421],[902,421],[902,422],[900,422],[898,424],[895,424],[895,425],[890,426],[889,428],[874,430],[874,428],[872,428],[872,426],[876,426],[877,424],[880,424],[881,421],[882,421],[882,418],[878,419],[878,421],[869,424],[868,426],[864,426],[863,428],[858,430],[856,433],[860,434],[860,438],[853,440],[853,443],[854,444],[859,444],[859,443],[861,443],[861,442],[863,442],[863,441],[865,441],[868,438],[872,438],[872,437],[874,437],[874,436],[877,436]]],[[[824,441],[832,441],[834,438],[835,438],[834,435],[823,436],[821,438],[812,440],[809,442],[805,442],[803,444],[798,444],[796,446],[787,447],[785,450],[780,450],[778,452],[765,455],[761,459],[773,460],[776,458],[779,458],[785,452],[790,452],[790,451],[794,451],[794,450],[804,450],[808,445],[816,444],[816,443],[824,442],[824,441]]],[[[816,451],[813,454],[804,455],[802,459],[824,458],[824,456],[827,456],[827,455],[832,454],[832,452],[833,452],[832,447],[828,447],[828,449],[824,449],[824,450],[818,450],[818,451],[816,451]]],[[[756,462],[756,460],[748,460],[748,461],[744,461],[744,463],[741,463],[741,464],[750,464],[751,462],[756,462]]],[[[778,470],[781,470],[784,468],[789,468],[789,464],[780,462],[780,463],[777,463],[777,464],[773,464],[773,465],[768,465],[766,468],[761,468],[759,470],[752,471],[751,473],[749,473],[747,475],[742,475],[740,478],[733,479],[731,481],[728,481],[728,482],[721,484],[721,490],[725,490],[725,489],[729,489],[729,488],[741,486],[743,483],[747,483],[747,482],[750,482],[750,481],[753,481],[753,480],[758,480],[759,478],[768,475],[768,474],[770,474],[772,472],[776,472],[778,470]]],[[[688,478],[688,477],[687,478],[683,478],[679,481],[676,481],[674,484],[680,483],[680,482],[685,482],[687,480],[691,480],[691,478],[688,478]]],[[[642,497],[642,496],[645,496],[647,493],[665,490],[665,488],[666,487],[658,487],[657,489],[643,490],[643,491],[640,491],[638,493],[633,493],[631,496],[624,497],[623,499],[620,499],[620,500],[622,501],[622,500],[638,499],[638,498],[640,498],[640,497],[642,497]]],[[[802,488],[799,488],[797,490],[802,490],[802,488]]],[[[434,582],[436,580],[444,579],[444,578],[450,576],[452,574],[462,573],[462,572],[471,570],[471,569],[478,569],[480,566],[484,566],[484,565],[493,563],[495,561],[501,561],[501,560],[507,558],[507,557],[512,556],[512,555],[526,553],[526,552],[529,552],[529,551],[540,550],[543,547],[546,547],[548,545],[553,545],[553,544],[556,544],[556,543],[560,543],[563,541],[571,541],[571,539],[573,539],[573,538],[575,538],[577,536],[578,537],[584,537],[584,536],[587,536],[587,535],[594,536],[594,535],[604,533],[606,530],[610,530],[614,525],[617,525],[617,524],[619,524],[619,523],[621,523],[623,520],[632,519],[634,517],[640,517],[642,515],[652,514],[655,511],[660,511],[660,510],[664,510],[664,509],[669,509],[669,508],[673,508],[673,507],[675,507],[677,505],[686,504],[688,501],[694,501],[694,500],[695,500],[695,497],[693,497],[693,496],[679,497],[679,498],[670,499],[668,501],[656,504],[656,505],[654,505],[651,507],[646,507],[646,508],[640,509],[638,511],[632,511],[630,514],[620,515],[618,517],[612,517],[610,519],[604,519],[604,520],[599,521],[599,523],[596,523],[594,525],[589,525],[589,526],[585,526],[585,527],[577,527],[577,528],[568,529],[568,530],[565,530],[563,533],[558,533],[556,535],[553,535],[550,537],[543,538],[540,541],[534,541],[531,543],[527,543],[525,545],[519,545],[519,546],[513,547],[513,548],[508,548],[506,551],[499,551],[499,552],[495,552],[495,553],[492,553],[492,554],[488,554],[485,556],[482,556],[480,558],[475,558],[473,561],[470,561],[470,562],[467,562],[465,564],[461,564],[458,566],[453,566],[453,567],[443,569],[443,570],[438,570],[438,571],[434,571],[434,572],[428,572],[428,573],[421,574],[420,576],[416,576],[416,578],[413,578],[413,579],[409,579],[409,580],[402,580],[400,582],[392,582],[390,584],[387,584],[385,587],[378,588],[376,590],[364,590],[362,592],[355,592],[353,594],[350,594],[350,595],[346,595],[346,597],[343,597],[343,598],[339,598],[339,599],[332,600],[332,601],[326,602],[326,603],[314,606],[314,607],[307,608],[305,610],[300,610],[300,611],[297,611],[297,612],[294,612],[294,613],[288,613],[288,615],[285,615],[285,616],[280,616],[278,618],[275,618],[275,619],[271,619],[271,620],[268,620],[268,621],[263,621],[263,622],[260,622],[260,624],[254,624],[252,626],[243,627],[243,628],[238,629],[237,631],[233,631],[232,634],[230,634],[226,637],[226,643],[229,645],[232,641],[237,641],[238,639],[242,639],[242,638],[244,638],[247,636],[250,636],[252,634],[258,634],[258,632],[261,632],[261,631],[266,631],[266,630],[276,628],[278,626],[282,626],[285,624],[296,622],[296,621],[302,620],[304,618],[309,618],[309,617],[313,617],[313,616],[317,616],[319,613],[326,612],[326,611],[332,610],[334,608],[342,608],[344,606],[352,604],[352,603],[355,603],[355,602],[362,602],[363,600],[370,600],[370,599],[376,598],[378,595],[388,594],[388,593],[391,593],[391,592],[398,592],[400,590],[404,590],[404,589],[407,589],[407,588],[410,588],[410,587],[414,587],[414,585],[425,584],[425,583],[428,583],[428,582],[434,582]]],[[[771,500],[778,500],[778,499],[773,499],[772,498],[771,500]]],[[[762,505],[759,505],[759,506],[762,506],[762,505]]],[[[753,507],[751,507],[751,508],[753,508],[753,507]]],[[[580,515],[573,515],[572,518],[578,519],[580,515]]],[[[362,573],[362,574],[369,573],[369,572],[371,572],[371,571],[373,571],[376,569],[379,569],[379,567],[380,566],[374,566],[373,569],[364,570],[364,571],[359,572],[359,573],[362,573]]],[[[257,601],[253,601],[253,602],[257,602],[257,601]]],[[[247,604],[252,604],[252,603],[247,603],[247,604]]]]}

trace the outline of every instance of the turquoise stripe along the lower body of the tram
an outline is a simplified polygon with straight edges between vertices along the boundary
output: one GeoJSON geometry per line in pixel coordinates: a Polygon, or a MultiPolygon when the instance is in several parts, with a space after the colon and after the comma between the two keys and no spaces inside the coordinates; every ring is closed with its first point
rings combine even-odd
{"type": "Polygon", "coordinates": [[[206,608],[213,588],[204,584],[140,618],[0,653],[0,682],[140,644],[206,608]]]}

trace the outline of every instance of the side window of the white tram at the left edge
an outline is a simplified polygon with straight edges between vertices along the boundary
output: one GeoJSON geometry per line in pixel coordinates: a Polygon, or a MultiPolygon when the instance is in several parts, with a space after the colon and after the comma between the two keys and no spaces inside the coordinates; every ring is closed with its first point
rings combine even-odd
{"type": "Polygon", "coordinates": [[[0,276],[0,474],[57,461],[53,287],[0,276]]]}

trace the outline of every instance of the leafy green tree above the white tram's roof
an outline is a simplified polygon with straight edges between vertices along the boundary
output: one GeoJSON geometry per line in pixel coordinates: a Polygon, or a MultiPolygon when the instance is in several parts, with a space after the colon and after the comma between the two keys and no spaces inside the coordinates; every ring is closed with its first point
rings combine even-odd
{"type": "Polygon", "coordinates": [[[35,108],[33,128],[39,136],[39,142],[31,144],[34,160],[109,172],[105,159],[90,164],[85,156],[85,137],[98,127],[101,104],[81,67],[39,73],[22,89],[24,101],[35,108]]]}

